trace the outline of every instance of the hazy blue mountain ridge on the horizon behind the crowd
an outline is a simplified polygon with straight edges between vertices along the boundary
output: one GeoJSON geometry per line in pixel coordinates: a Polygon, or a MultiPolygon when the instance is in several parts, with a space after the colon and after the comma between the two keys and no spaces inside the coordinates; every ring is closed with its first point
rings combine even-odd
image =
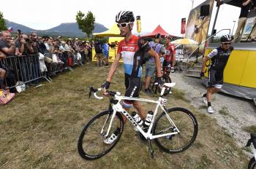
{"type": "MultiPolygon", "coordinates": [[[[7,23],[7,27],[12,26],[14,31],[17,31],[18,29],[20,29],[25,34],[30,34],[32,31],[35,31],[37,32],[37,34],[41,36],[48,35],[48,36],[85,37],[85,33],[80,31],[77,23],[61,23],[60,25],[47,30],[35,30],[25,25],[20,25],[18,23],[10,22],[9,20],[5,20],[5,23],[7,23]]],[[[93,33],[98,33],[98,32],[107,31],[107,30],[108,28],[106,28],[102,24],[99,24],[99,23],[94,24],[93,33]]]]}

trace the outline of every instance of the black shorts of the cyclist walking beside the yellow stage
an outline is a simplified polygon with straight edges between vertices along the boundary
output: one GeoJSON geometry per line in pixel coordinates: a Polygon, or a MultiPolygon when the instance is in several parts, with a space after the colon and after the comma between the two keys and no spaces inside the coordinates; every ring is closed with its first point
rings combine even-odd
{"type": "Polygon", "coordinates": [[[208,83],[207,87],[222,88],[223,84],[223,72],[211,69],[208,71],[208,83]]]}

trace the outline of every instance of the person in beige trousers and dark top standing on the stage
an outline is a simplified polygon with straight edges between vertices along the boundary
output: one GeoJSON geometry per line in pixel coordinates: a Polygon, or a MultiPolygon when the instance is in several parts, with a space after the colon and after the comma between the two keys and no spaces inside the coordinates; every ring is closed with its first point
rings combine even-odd
{"type": "Polygon", "coordinates": [[[241,31],[244,30],[244,25],[246,23],[247,15],[249,12],[249,2],[251,2],[251,0],[241,1],[241,12],[238,19],[238,26],[236,28],[236,33],[234,35],[234,40],[233,40],[234,43],[238,42],[238,38],[241,34],[241,31]]]}

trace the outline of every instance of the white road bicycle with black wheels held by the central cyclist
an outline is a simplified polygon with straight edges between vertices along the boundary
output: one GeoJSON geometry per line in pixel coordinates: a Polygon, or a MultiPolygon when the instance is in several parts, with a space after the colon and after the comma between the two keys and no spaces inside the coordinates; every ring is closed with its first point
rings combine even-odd
{"type": "MultiPolygon", "coordinates": [[[[163,84],[162,91],[157,101],[144,98],[130,98],[122,96],[119,92],[107,90],[103,96],[109,96],[110,104],[106,111],[102,111],[92,117],[89,122],[83,127],[78,138],[78,153],[80,157],[86,160],[96,160],[104,156],[118,143],[121,134],[124,130],[124,117],[134,125],[137,132],[146,138],[149,146],[151,157],[154,157],[154,150],[151,146],[151,141],[154,140],[159,149],[170,154],[183,152],[195,141],[198,132],[197,119],[191,111],[175,107],[166,109],[167,99],[163,98],[165,90],[168,87],[173,87],[175,83],[163,84]],[[140,101],[155,104],[154,114],[149,127],[143,128],[135,122],[129,113],[121,106],[121,101],[140,101]],[[162,111],[162,113],[161,113],[162,111]],[[160,113],[159,116],[157,116],[160,113]],[[105,144],[105,140],[110,138],[110,135],[118,131],[117,138],[111,144],[105,144]]],[[[99,97],[97,92],[102,90],[90,88],[90,93],[94,93],[94,97],[99,97]]]]}

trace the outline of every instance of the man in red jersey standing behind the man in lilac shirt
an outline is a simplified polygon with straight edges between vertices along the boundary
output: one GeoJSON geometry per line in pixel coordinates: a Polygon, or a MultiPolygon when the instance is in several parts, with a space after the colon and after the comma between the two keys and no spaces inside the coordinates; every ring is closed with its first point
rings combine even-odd
{"type": "Polygon", "coordinates": [[[176,50],[175,46],[170,43],[172,37],[170,35],[165,35],[165,60],[163,63],[163,68],[170,64],[171,69],[175,66],[176,63],[176,50]]]}

